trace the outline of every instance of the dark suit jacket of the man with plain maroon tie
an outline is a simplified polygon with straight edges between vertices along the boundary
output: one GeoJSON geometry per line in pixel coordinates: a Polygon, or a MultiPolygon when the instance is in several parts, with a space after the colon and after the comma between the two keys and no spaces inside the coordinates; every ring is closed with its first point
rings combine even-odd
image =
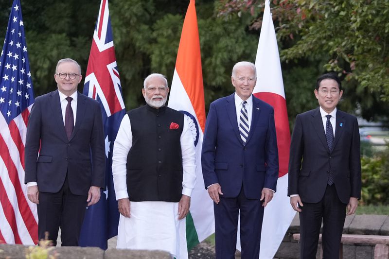
{"type": "Polygon", "coordinates": [[[90,186],[104,187],[106,158],[100,105],[77,94],[76,122],[70,140],[58,90],[37,97],[31,109],[24,179],[25,183],[37,182],[39,191],[58,192],[66,174],[73,194],[88,195],[90,186]]]}

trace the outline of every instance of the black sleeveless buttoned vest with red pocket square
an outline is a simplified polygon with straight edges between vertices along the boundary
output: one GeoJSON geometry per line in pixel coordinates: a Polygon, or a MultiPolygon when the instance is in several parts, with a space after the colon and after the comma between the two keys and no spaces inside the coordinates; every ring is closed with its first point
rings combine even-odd
{"type": "Polygon", "coordinates": [[[184,115],[166,106],[155,109],[147,104],[127,114],[132,131],[132,147],[127,156],[130,201],[179,202],[184,115]]]}

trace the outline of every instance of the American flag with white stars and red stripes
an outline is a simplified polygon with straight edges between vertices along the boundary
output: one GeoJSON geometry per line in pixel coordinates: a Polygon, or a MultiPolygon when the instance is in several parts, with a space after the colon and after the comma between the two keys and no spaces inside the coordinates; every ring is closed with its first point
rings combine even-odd
{"type": "Polygon", "coordinates": [[[36,205],[24,184],[24,144],[34,103],[20,1],[14,0],[0,55],[0,243],[38,241],[36,205]]]}

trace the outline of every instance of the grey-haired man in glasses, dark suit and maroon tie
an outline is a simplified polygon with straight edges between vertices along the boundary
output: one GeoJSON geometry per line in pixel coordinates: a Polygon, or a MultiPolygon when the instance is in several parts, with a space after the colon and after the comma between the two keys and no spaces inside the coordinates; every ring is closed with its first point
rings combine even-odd
{"type": "Polygon", "coordinates": [[[58,90],[39,96],[31,109],[25,146],[28,198],[37,204],[38,237],[56,245],[78,245],[87,205],[100,199],[105,180],[105,145],[98,102],[77,91],[81,68],[58,61],[58,90]],[[92,165],[93,164],[93,165],[92,165]]]}

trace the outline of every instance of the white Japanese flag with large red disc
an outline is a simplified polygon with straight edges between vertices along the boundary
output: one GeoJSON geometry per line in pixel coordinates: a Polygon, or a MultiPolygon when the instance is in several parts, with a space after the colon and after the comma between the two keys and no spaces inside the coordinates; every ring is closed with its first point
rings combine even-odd
{"type": "Polygon", "coordinates": [[[277,192],[265,207],[259,254],[261,259],[274,257],[296,214],[287,196],[290,130],[280,55],[269,4],[269,0],[265,0],[265,12],[255,59],[257,85],[253,93],[254,96],[274,107],[280,171],[277,192]]]}

